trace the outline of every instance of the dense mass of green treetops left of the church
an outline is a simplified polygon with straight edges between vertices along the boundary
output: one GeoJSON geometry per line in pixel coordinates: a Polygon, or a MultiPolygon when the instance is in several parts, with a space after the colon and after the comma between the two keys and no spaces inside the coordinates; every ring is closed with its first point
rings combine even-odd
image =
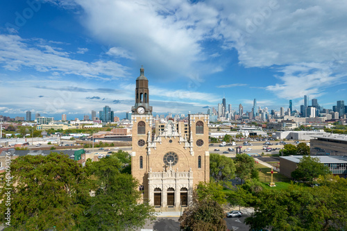
{"type": "MultiPolygon", "coordinates": [[[[139,203],[138,182],[122,173],[121,160],[127,159],[118,154],[87,162],[85,168],[58,153],[13,160],[10,186],[4,180],[0,185],[1,199],[12,188],[6,230],[135,230],[153,220],[153,207],[139,203]]],[[[1,203],[1,212],[6,209],[1,203]]]]}

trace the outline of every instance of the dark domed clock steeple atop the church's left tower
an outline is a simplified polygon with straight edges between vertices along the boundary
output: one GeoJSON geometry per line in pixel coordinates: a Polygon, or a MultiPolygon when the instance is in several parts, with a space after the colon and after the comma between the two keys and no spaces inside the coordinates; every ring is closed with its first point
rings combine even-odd
{"type": "Polygon", "coordinates": [[[131,108],[132,114],[152,114],[149,105],[149,80],[144,76],[144,68],[139,69],[139,77],[136,79],[135,106],[131,108]]]}

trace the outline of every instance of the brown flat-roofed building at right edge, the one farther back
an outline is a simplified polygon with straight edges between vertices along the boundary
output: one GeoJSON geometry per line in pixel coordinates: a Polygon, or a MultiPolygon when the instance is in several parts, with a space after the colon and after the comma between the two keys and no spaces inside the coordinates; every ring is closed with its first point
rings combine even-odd
{"type": "Polygon", "coordinates": [[[311,139],[311,155],[347,156],[347,135],[323,135],[311,139]]]}

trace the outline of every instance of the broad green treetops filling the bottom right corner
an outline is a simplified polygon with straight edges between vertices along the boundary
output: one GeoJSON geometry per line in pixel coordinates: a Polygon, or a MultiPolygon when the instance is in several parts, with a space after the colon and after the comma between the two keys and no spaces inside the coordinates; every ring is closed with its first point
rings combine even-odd
{"type": "Polygon", "coordinates": [[[251,229],[346,230],[346,179],[321,187],[291,185],[285,190],[264,190],[253,215],[245,219],[251,229]]]}

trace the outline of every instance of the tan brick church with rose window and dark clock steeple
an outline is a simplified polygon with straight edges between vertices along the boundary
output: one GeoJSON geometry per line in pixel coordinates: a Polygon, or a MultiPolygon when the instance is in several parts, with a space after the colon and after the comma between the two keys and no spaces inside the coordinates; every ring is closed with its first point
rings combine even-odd
{"type": "Polygon", "coordinates": [[[210,180],[208,115],[189,114],[187,121],[154,121],[149,80],[140,69],[132,107],[131,173],[139,180],[143,201],[165,209],[189,206],[198,182],[210,180]]]}

